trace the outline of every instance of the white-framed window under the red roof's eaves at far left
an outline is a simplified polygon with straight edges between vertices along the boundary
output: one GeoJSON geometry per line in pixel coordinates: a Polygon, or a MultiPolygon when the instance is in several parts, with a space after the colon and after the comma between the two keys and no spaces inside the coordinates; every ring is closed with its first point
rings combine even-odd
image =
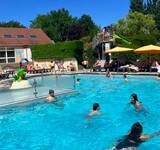
{"type": "Polygon", "coordinates": [[[0,63],[15,63],[14,48],[0,48],[0,63]]]}

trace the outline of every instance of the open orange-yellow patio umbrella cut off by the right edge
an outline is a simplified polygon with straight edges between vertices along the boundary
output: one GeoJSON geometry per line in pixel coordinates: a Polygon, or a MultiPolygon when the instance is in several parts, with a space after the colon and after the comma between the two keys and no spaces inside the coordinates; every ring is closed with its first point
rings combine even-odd
{"type": "Polygon", "coordinates": [[[136,49],[134,52],[137,54],[160,54],[160,47],[155,45],[147,45],[136,49]]]}

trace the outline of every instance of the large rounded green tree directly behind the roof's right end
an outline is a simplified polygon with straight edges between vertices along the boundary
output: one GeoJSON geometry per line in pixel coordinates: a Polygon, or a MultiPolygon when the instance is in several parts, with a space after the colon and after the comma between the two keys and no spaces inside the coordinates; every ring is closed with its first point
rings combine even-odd
{"type": "Polygon", "coordinates": [[[66,31],[76,20],[68,10],[62,8],[46,15],[37,16],[32,21],[31,27],[41,28],[54,41],[65,41],[66,31]]]}

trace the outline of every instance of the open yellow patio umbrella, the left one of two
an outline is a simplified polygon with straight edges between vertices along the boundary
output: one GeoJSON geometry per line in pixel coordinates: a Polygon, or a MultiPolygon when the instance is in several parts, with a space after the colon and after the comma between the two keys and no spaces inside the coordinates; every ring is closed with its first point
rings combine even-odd
{"type": "Polygon", "coordinates": [[[125,48],[125,47],[115,47],[110,50],[106,50],[105,53],[124,53],[124,52],[131,52],[133,49],[125,48]]]}

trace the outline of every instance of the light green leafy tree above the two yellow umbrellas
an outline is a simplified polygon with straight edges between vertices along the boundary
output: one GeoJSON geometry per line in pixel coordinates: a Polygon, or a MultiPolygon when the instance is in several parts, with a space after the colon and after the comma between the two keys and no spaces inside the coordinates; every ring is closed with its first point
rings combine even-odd
{"type": "MultiPolygon", "coordinates": [[[[158,30],[152,15],[134,12],[114,25],[115,33],[128,39],[135,46],[155,44],[158,30]]],[[[124,45],[123,45],[124,46],[124,45]]]]}

